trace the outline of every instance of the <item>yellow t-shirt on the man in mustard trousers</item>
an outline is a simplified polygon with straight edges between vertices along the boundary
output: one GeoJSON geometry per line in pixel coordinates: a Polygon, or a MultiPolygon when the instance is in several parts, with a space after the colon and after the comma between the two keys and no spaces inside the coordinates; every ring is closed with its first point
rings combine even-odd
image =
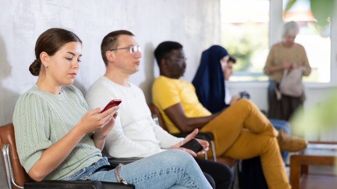
{"type": "Polygon", "coordinates": [[[180,103],[187,118],[204,117],[212,115],[199,102],[192,83],[182,79],[171,79],[159,76],[152,86],[152,102],[163,115],[170,133],[179,133],[180,130],[173,125],[164,110],[180,103]]]}

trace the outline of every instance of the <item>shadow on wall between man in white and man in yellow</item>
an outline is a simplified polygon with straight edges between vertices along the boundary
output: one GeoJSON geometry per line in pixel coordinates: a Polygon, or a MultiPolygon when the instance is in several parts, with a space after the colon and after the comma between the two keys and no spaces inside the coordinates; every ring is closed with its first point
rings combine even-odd
{"type": "Polygon", "coordinates": [[[144,48],[143,56],[145,56],[144,59],[144,65],[145,65],[145,80],[142,82],[139,87],[144,91],[146,102],[149,104],[152,102],[152,84],[155,80],[155,74],[154,74],[154,51],[155,48],[151,42],[147,43],[144,48]]]}

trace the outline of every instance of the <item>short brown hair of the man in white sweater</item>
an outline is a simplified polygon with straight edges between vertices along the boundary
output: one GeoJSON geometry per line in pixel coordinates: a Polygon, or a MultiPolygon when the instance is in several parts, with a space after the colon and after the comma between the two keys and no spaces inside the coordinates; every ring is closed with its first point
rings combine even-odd
{"type": "Polygon", "coordinates": [[[106,59],[105,52],[110,51],[111,49],[115,49],[118,47],[118,36],[120,35],[129,35],[135,36],[133,33],[127,30],[117,30],[108,33],[102,40],[100,45],[100,52],[102,54],[102,59],[104,61],[105,66],[108,65],[108,60],[106,59]]]}

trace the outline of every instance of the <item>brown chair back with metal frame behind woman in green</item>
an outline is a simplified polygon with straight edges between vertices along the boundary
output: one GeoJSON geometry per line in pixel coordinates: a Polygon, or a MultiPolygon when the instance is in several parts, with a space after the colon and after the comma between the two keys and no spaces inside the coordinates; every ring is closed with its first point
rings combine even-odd
{"type": "Polygon", "coordinates": [[[23,183],[30,181],[20,164],[16,152],[14,126],[12,123],[0,126],[0,147],[3,168],[9,189],[22,189],[23,183]]]}

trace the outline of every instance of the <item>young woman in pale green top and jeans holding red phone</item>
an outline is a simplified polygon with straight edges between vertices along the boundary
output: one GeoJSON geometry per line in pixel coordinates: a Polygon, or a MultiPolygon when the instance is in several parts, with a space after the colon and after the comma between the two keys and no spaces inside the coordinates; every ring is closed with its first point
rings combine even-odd
{"type": "Polygon", "coordinates": [[[51,28],[35,45],[30,72],[36,84],[18,99],[13,124],[21,165],[35,181],[97,180],[127,182],[137,189],[211,186],[192,156],[168,150],[113,170],[101,150],[114,126],[117,107],[89,111],[73,86],[82,57],[82,41],[71,31],[51,28]]]}

